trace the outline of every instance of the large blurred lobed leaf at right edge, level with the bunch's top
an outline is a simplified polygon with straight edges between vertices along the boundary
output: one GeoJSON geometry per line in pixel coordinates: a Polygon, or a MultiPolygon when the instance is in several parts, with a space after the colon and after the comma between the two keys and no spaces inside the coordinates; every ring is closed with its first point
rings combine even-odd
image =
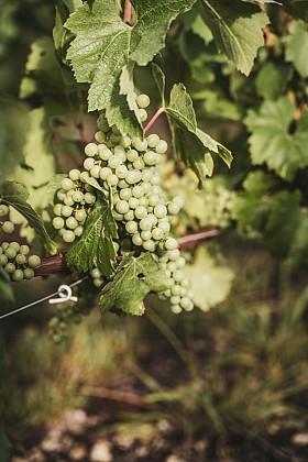
{"type": "Polygon", "coordinates": [[[288,98],[282,97],[277,101],[264,101],[258,111],[250,110],[244,120],[252,133],[249,143],[253,164],[267,164],[287,180],[308,165],[308,111],[290,133],[295,110],[288,98]]]}

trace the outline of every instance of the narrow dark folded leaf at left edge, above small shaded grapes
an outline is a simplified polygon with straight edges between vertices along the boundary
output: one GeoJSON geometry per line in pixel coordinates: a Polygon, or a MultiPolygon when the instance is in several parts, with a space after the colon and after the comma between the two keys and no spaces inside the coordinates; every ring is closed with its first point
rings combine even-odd
{"type": "Polygon", "coordinates": [[[0,186],[0,197],[3,202],[13,207],[29,221],[29,224],[42,238],[47,252],[54,255],[57,252],[57,246],[50,238],[40,215],[26,202],[29,198],[26,188],[16,182],[4,182],[0,186]]]}

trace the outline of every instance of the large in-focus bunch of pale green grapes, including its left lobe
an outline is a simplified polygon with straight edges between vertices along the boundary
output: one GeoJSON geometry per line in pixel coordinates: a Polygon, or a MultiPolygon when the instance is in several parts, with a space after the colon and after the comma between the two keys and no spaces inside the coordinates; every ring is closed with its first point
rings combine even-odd
{"type": "MultiPolygon", "coordinates": [[[[139,95],[135,101],[140,120],[146,120],[145,109],[150,98],[139,95]]],[[[82,228],[87,213],[79,221],[79,212],[95,202],[89,184],[90,178],[96,180],[106,196],[111,197],[112,215],[121,238],[114,242],[116,252],[121,255],[130,251],[153,253],[165,272],[169,287],[162,296],[169,297],[174,312],[193,309],[193,293],[182,272],[185,260],[179,254],[177,241],[169,237],[170,223],[179,212],[183,199],[179,196],[166,199],[158,170],[168,148],[166,141],[157,134],[143,139],[122,135],[116,125],[109,127],[105,113],[98,118],[97,125],[96,142],[85,147],[85,170],[70,170],[57,191],[57,198],[64,205],[55,206],[57,217],[53,226],[66,242],[81,235],[76,230],[82,228]],[[86,200],[84,189],[91,194],[91,202],[86,200]]],[[[101,287],[103,279],[98,268],[94,268],[91,275],[94,284],[101,287]]]]}

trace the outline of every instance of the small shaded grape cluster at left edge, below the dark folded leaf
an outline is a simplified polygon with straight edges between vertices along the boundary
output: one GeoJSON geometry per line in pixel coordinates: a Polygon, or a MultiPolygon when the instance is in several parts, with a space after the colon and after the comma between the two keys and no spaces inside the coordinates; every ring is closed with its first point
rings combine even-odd
{"type": "Polygon", "coordinates": [[[32,279],[34,270],[41,265],[38,255],[29,255],[30,248],[18,242],[2,242],[0,245],[0,266],[11,280],[32,279]]]}

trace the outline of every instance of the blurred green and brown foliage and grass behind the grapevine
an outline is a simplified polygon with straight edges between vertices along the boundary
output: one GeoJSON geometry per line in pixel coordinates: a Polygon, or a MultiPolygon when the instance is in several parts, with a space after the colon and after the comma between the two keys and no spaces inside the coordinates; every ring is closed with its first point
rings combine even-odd
{"type": "MultiPolygon", "coordinates": [[[[2,424],[13,446],[26,447],[30,430],[64,408],[87,406],[96,386],[123,384],[147,410],[114,406],[119,431],[155,430],[163,419],[184,439],[235,435],[273,447],[279,435],[308,431],[308,6],[283,3],[265,8],[271,25],[249,77],[218,53],[197,7],[173,24],[156,59],[168,88],[186,85],[200,128],[234,154],[231,170],[218,163],[204,193],[174,161],[163,167],[167,190],[186,196],[178,233],[218,230],[187,248],[199,308],[175,316],[151,296],[140,319],[101,321],[92,310],[61,345],[50,340],[46,304],[1,321],[2,424]]],[[[54,8],[0,0],[1,174],[31,184],[37,210],[48,204],[51,176],[80,165],[95,131],[86,87],[53,52],[54,8]]],[[[136,82],[154,113],[151,69],[138,69],[136,82]]],[[[164,117],[155,131],[169,139],[164,117]]],[[[22,234],[33,240],[26,227],[22,234]]],[[[13,284],[14,302],[6,294],[1,310],[57,284],[13,284]]],[[[1,444],[10,442],[0,431],[1,444]]]]}

